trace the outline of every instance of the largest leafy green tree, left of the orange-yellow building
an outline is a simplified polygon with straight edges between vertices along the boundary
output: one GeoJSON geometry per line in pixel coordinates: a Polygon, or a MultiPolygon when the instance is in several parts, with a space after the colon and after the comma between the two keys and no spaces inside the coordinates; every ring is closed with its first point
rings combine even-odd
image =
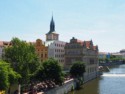
{"type": "Polygon", "coordinates": [[[40,64],[35,48],[32,44],[18,38],[13,38],[11,44],[12,46],[5,48],[4,59],[22,76],[20,82],[27,83],[30,79],[29,75],[33,74],[40,64]]]}

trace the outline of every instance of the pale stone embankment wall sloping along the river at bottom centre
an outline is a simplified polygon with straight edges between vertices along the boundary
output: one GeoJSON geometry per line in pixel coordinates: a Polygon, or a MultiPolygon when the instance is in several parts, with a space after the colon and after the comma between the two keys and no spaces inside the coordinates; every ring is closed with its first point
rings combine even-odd
{"type": "Polygon", "coordinates": [[[76,87],[76,83],[73,79],[71,79],[65,82],[64,85],[45,92],[45,94],[66,94],[75,87],[76,87]]]}

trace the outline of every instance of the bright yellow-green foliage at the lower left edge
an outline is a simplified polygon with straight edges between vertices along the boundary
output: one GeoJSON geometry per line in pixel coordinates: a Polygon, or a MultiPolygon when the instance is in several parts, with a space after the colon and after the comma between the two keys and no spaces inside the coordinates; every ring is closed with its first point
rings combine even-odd
{"type": "Polygon", "coordinates": [[[21,76],[13,71],[10,64],[0,61],[0,90],[7,89],[10,85],[16,83],[21,76]]]}

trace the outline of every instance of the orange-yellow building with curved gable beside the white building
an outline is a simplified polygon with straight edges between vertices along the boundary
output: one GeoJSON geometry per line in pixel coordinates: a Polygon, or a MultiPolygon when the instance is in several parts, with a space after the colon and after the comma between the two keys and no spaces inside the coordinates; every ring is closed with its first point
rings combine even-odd
{"type": "Polygon", "coordinates": [[[42,40],[36,40],[35,49],[41,61],[44,61],[48,58],[48,47],[44,45],[42,40]]]}

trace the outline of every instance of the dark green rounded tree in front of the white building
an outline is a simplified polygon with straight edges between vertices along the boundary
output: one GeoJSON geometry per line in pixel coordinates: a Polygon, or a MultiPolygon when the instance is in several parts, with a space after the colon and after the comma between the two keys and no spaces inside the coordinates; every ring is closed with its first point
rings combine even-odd
{"type": "Polygon", "coordinates": [[[58,61],[53,58],[43,62],[43,72],[48,81],[53,81],[59,85],[64,81],[62,67],[59,65],[58,61]]]}

